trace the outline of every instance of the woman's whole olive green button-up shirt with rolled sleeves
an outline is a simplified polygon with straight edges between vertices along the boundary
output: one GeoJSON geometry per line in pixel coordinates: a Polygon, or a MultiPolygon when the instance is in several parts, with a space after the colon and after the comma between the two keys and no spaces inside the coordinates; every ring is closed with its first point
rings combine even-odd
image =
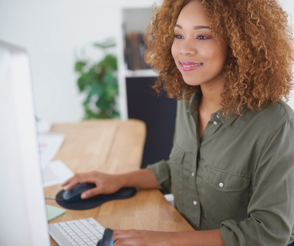
{"type": "Polygon", "coordinates": [[[283,101],[243,116],[211,115],[197,130],[198,96],[178,101],[170,159],[148,165],[195,230],[225,246],[294,241],[294,112],[283,101]]]}

